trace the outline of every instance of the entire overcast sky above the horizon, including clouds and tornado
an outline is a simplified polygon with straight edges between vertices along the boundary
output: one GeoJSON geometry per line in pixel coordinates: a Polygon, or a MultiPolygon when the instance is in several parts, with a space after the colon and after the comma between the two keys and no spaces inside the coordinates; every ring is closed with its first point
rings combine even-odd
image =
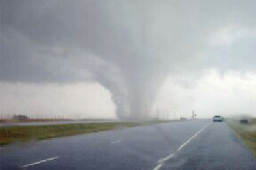
{"type": "Polygon", "coordinates": [[[0,1],[0,113],[255,116],[255,1],[0,1]]]}

